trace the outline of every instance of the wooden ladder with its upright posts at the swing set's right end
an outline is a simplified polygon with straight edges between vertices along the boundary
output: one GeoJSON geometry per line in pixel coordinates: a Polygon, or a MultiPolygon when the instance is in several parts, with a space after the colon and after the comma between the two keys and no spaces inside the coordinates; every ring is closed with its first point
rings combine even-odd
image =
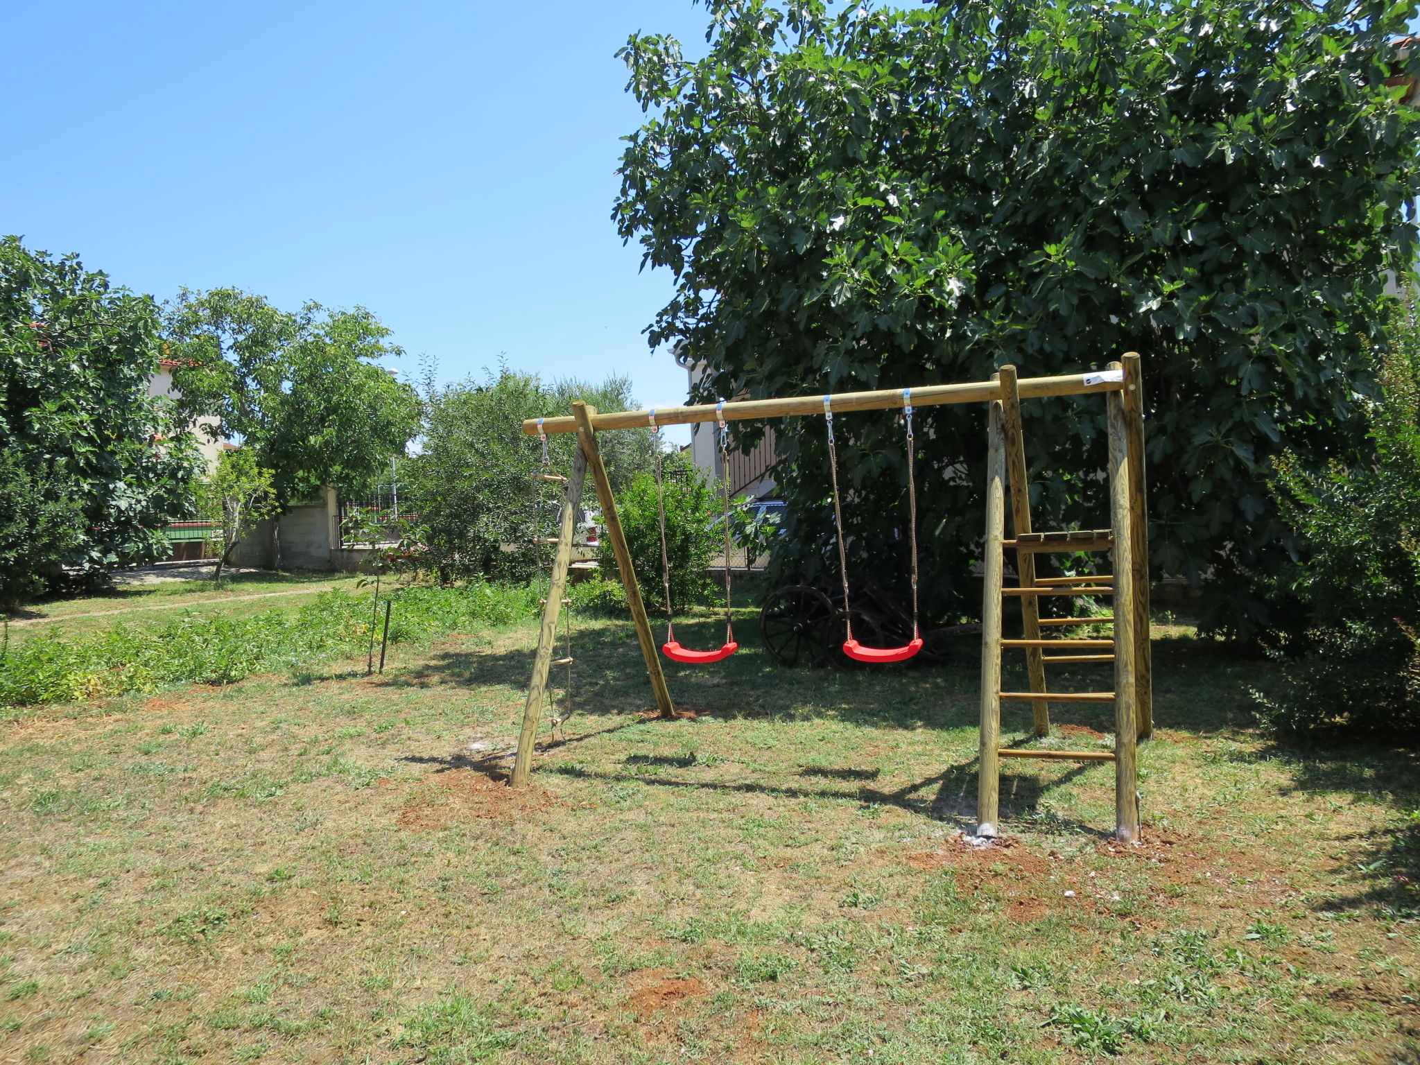
{"type": "Polygon", "coordinates": [[[1136,747],[1152,731],[1149,676],[1149,578],[1143,513],[1143,425],[1140,420],[1139,356],[1110,369],[1125,372],[1125,390],[1105,398],[1109,423],[1109,510],[1112,528],[1035,532],[1031,528],[1025,439],[1014,366],[1003,366],[1001,399],[990,405],[987,452],[985,591],[981,625],[981,748],[977,792],[977,835],[998,834],[1001,758],[1115,763],[1115,836],[1139,838],[1136,747]],[[1130,393],[1132,389],[1132,393],[1130,393]],[[1137,425],[1132,425],[1136,422],[1137,425]],[[1133,430],[1133,432],[1132,432],[1133,430]],[[1014,538],[1005,535],[1005,491],[1011,493],[1014,538]],[[1015,552],[1017,586],[1005,585],[1005,551],[1015,552]],[[1048,552],[1109,552],[1113,574],[1096,577],[1035,575],[1035,557],[1048,552]],[[1106,618],[1042,618],[1041,599],[1091,595],[1110,598],[1106,618]],[[1021,604],[1021,639],[1003,639],[1003,606],[1021,604]],[[1109,625],[1109,639],[1071,639],[1072,626],[1109,625]],[[1059,632],[1047,636],[1045,630],[1059,632]],[[1027,692],[1001,690],[1003,650],[1024,650],[1027,692]],[[1062,652],[1062,653],[1047,653],[1062,652]],[[1051,692],[1048,665],[1113,663],[1112,692],[1051,692]],[[1061,751],[1001,747],[1001,704],[1027,701],[1034,734],[1049,736],[1051,703],[1112,703],[1113,751],[1061,751]]]}

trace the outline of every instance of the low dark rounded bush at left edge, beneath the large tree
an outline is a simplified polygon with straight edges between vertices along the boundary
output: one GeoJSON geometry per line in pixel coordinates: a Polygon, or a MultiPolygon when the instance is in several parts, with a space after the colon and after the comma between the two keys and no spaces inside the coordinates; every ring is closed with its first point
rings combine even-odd
{"type": "Polygon", "coordinates": [[[80,542],[84,510],[55,479],[0,452],[0,609],[40,595],[80,542]]]}

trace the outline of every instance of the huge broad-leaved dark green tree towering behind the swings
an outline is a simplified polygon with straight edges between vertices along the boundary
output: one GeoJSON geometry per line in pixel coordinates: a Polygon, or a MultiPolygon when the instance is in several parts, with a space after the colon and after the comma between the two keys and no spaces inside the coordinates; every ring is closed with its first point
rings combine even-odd
{"type": "MultiPolygon", "coordinates": [[[[706,361],[703,398],[983,381],[1003,364],[1041,376],[1140,351],[1156,567],[1218,578],[1216,630],[1271,625],[1288,530],[1269,463],[1360,447],[1383,273],[1416,253],[1416,115],[1384,85],[1411,7],[707,7],[704,58],[653,34],[622,53],[652,116],[628,138],[615,217],[677,280],[652,344],[706,361]]],[[[1099,524],[1099,400],[1025,416],[1037,525],[1099,524]]],[[[981,528],[983,413],[923,420],[923,586],[943,613],[981,528]]],[[[878,561],[900,538],[900,430],[883,415],[839,429],[852,542],[878,561]]],[[[780,440],[778,564],[814,577],[826,449],[816,425],[780,440]]]]}

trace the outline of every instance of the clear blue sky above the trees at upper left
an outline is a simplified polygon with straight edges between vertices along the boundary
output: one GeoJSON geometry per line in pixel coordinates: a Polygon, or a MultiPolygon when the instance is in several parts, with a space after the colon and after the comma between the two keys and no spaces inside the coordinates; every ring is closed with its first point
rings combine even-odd
{"type": "Polygon", "coordinates": [[[669,298],[609,220],[640,109],[636,30],[703,47],[692,0],[14,4],[4,233],[168,298],[239,285],[364,304],[446,381],[684,373],[640,335],[669,298]]]}

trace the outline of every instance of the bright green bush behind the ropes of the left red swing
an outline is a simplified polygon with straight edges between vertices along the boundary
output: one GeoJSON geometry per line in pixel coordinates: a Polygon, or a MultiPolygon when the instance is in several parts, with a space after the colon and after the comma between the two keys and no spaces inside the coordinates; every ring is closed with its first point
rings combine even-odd
{"type": "MultiPolygon", "coordinates": [[[[670,599],[676,609],[706,602],[716,586],[707,572],[724,548],[724,531],[716,523],[723,513],[720,488],[707,484],[682,462],[666,463],[666,559],[670,569],[670,599]]],[[[632,477],[616,500],[632,567],[648,609],[666,609],[660,572],[660,518],[656,507],[656,479],[649,473],[632,477]]],[[[616,572],[611,538],[602,535],[596,558],[606,574],[616,572]]]]}

